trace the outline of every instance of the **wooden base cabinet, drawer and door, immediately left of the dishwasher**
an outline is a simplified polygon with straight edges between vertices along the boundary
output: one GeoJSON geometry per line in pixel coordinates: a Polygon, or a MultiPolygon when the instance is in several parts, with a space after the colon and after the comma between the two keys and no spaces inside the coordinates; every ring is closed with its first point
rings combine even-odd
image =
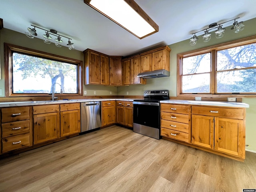
{"type": "Polygon", "coordinates": [[[80,103],[60,104],[60,137],[80,132],[80,103]]]}

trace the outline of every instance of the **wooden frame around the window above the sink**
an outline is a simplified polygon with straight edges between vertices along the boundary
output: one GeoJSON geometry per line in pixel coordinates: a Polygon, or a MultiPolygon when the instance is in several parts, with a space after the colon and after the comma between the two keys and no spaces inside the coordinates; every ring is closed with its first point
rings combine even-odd
{"type": "Polygon", "coordinates": [[[4,72],[5,72],[5,97],[17,97],[17,96],[49,96],[47,93],[12,93],[12,52],[21,54],[28,54],[30,56],[42,57],[50,60],[56,60],[60,62],[67,62],[75,64],[78,69],[77,82],[78,82],[78,93],[64,93],[59,94],[60,96],[81,96],[82,95],[82,61],[64,56],[59,56],[47,52],[42,52],[22,46],[4,43],[4,72]]]}

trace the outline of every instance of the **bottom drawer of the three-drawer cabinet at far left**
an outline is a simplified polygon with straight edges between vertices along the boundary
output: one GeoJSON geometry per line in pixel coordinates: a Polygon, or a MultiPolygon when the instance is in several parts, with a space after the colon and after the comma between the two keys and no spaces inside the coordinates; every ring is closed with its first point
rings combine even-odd
{"type": "Polygon", "coordinates": [[[3,153],[30,146],[30,134],[23,134],[2,139],[3,153]]]}

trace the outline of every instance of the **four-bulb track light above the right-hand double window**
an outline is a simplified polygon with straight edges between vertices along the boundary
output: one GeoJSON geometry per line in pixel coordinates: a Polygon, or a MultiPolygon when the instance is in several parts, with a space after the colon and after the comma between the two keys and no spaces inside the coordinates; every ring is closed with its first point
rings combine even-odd
{"type": "Polygon", "coordinates": [[[236,19],[238,19],[238,18],[240,18],[240,17],[236,17],[236,18],[233,18],[233,19],[228,20],[228,21],[225,21],[225,22],[212,23],[212,24],[210,24],[209,27],[207,27],[207,28],[204,28],[204,29],[202,29],[202,30],[193,32],[192,35],[194,34],[194,36],[193,36],[192,38],[190,38],[189,44],[190,44],[190,45],[195,45],[196,42],[197,42],[197,40],[198,40],[198,38],[196,37],[196,33],[201,32],[201,31],[204,31],[204,30],[205,30],[205,32],[204,32],[204,34],[202,35],[203,42],[208,42],[208,41],[210,41],[212,33],[210,33],[209,30],[213,30],[213,29],[216,29],[216,28],[218,28],[218,29],[214,31],[215,37],[216,37],[217,39],[218,39],[218,38],[222,38],[222,37],[224,36],[224,31],[226,30],[225,28],[222,28],[222,26],[223,26],[222,24],[224,24],[224,23],[226,23],[226,22],[229,22],[229,21],[232,21],[232,20],[234,20],[234,23],[233,23],[234,26],[232,26],[231,29],[234,29],[234,32],[235,32],[235,33],[238,33],[238,32],[240,32],[240,31],[242,31],[242,30],[244,29],[244,25],[242,24],[242,23],[243,23],[242,21],[239,22],[239,23],[236,21],[236,19]]]}

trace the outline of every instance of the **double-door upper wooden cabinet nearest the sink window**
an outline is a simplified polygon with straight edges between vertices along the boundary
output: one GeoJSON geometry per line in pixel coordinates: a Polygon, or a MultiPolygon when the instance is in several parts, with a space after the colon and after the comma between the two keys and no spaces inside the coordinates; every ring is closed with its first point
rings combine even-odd
{"type": "Polygon", "coordinates": [[[108,56],[90,49],[84,51],[84,84],[109,85],[108,56]]]}

